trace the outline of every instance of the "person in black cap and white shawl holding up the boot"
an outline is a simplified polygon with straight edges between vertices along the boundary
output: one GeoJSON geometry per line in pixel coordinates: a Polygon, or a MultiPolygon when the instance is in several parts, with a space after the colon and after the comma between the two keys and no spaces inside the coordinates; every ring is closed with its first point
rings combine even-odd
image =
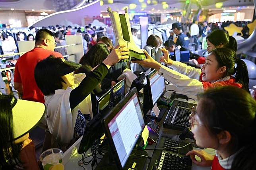
{"type": "Polygon", "coordinates": [[[89,94],[107,75],[112,65],[127,58],[121,55],[129,53],[124,45],[116,46],[86,77],[85,74],[73,75],[81,64],[65,61],[54,55],[37,63],[35,81],[45,97],[48,131],[60,143],[61,148],[69,146],[74,139],[83,135],[86,120],[84,115],[91,113],[89,94]]]}

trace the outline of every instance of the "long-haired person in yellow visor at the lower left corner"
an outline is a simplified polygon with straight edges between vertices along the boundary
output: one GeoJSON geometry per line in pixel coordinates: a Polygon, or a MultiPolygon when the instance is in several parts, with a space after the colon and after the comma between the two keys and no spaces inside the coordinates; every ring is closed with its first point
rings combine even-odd
{"type": "Polygon", "coordinates": [[[29,131],[40,122],[44,111],[43,103],[0,94],[1,170],[39,170],[29,131]]]}

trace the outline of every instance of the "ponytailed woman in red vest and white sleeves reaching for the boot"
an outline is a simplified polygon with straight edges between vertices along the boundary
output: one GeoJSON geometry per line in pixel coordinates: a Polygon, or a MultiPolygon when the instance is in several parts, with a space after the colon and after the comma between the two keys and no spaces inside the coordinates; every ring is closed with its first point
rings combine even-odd
{"type": "Polygon", "coordinates": [[[164,56],[160,61],[164,61],[174,70],[165,67],[147,55],[143,61],[134,61],[145,67],[151,67],[158,71],[158,74],[173,83],[178,88],[198,94],[207,88],[218,86],[236,86],[249,92],[249,77],[246,64],[236,57],[235,51],[229,48],[215,48],[206,57],[206,62],[202,70],[187,66],[181,62],[175,62],[168,57],[168,51],[161,49],[164,56]],[[237,65],[235,67],[235,64],[237,65]],[[235,75],[233,77],[232,75],[235,75]]]}

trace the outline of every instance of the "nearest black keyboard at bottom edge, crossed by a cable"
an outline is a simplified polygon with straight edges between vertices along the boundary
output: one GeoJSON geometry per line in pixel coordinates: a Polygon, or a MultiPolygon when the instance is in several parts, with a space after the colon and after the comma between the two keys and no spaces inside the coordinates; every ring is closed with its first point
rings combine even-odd
{"type": "MultiPolygon", "coordinates": [[[[160,138],[158,147],[181,147],[187,143],[174,141],[167,138],[160,138]]],[[[165,149],[163,151],[155,150],[149,164],[149,170],[191,170],[192,160],[190,156],[185,156],[192,150],[192,145],[184,148],[165,149]]]]}

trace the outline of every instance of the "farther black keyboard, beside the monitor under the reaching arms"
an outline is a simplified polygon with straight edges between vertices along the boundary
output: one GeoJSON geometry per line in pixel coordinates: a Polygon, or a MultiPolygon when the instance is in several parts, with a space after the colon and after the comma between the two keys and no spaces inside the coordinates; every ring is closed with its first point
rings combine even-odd
{"type": "Polygon", "coordinates": [[[181,131],[190,127],[188,120],[192,106],[196,105],[175,100],[163,122],[163,127],[181,131]]]}

